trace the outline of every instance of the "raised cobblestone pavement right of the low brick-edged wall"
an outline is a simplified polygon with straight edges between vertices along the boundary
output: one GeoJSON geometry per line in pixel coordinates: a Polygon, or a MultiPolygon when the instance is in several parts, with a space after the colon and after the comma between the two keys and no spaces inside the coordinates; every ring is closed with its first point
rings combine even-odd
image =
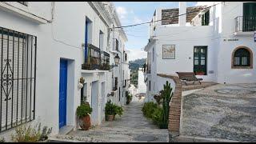
{"type": "Polygon", "coordinates": [[[256,142],[256,83],[218,84],[182,99],[182,135],[256,142]]]}

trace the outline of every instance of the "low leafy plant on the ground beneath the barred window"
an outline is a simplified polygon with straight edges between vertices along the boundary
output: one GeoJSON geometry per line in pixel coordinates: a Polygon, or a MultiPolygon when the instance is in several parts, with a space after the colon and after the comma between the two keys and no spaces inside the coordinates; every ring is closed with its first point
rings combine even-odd
{"type": "Polygon", "coordinates": [[[44,126],[41,131],[41,123],[34,127],[22,125],[18,126],[14,134],[11,134],[11,139],[14,142],[40,142],[46,140],[51,131],[52,128],[48,129],[47,126],[44,126]]]}

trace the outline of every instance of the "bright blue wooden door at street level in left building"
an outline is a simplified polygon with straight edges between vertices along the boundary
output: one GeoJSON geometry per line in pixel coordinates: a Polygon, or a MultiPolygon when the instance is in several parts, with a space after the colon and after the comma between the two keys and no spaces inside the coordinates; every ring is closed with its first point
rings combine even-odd
{"type": "Polygon", "coordinates": [[[58,107],[59,128],[66,125],[66,83],[67,83],[67,61],[61,59],[60,71],[59,71],[59,107],[58,107]]]}

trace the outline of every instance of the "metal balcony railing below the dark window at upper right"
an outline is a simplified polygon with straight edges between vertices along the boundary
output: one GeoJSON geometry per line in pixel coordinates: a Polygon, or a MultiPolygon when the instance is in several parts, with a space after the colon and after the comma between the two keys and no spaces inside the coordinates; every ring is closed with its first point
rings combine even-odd
{"type": "Polygon", "coordinates": [[[235,19],[235,32],[256,30],[256,16],[238,16],[235,19]]]}

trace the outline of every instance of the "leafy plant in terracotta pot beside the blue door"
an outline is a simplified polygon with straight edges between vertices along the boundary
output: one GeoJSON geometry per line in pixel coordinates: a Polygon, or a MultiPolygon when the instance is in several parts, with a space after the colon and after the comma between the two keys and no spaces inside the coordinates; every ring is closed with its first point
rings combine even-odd
{"type": "Polygon", "coordinates": [[[82,130],[89,130],[90,128],[90,115],[93,109],[88,102],[83,102],[81,106],[77,108],[77,115],[79,118],[79,126],[82,130]]]}

